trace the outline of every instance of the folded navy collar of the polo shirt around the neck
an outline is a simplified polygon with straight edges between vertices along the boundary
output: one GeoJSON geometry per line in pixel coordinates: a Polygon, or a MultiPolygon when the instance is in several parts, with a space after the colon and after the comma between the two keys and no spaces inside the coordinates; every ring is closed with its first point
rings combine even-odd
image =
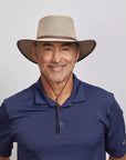
{"type": "MultiPolygon", "coordinates": [[[[85,92],[84,92],[84,83],[76,78],[75,74],[73,74],[74,78],[74,86],[71,97],[61,106],[61,108],[64,107],[71,107],[72,103],[78,103],[84,102],[85,99],[85,92]]],[[[55,107],[55,102],[51,100],[48,94],[44,91],[41,78],[35,83],[34,88],[34,96],[35,96],[35,103],[38,104],[49,104],[50,107],[55,107]]]]}

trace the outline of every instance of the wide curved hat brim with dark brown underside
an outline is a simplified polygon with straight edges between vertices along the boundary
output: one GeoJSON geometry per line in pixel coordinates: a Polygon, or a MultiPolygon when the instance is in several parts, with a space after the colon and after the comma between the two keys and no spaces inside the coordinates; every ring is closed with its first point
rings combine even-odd
{"type": "Polygon", "coordinates": [[[87,57],[96,47],[96,41],[95,40],[84,40],[84,41],[75,41],[75,40],[66,40],[66,39],[35,39],[35,40],[30,40],[30,39],[22,39],[17,42],[17,46],[21,53],[29,59],[30,61],[36,63],[32,57],[33,53],[33,46],[35,42],[41,42],[41,41],[55,41],[55,42],[77,42],[80,46],[80,57],[77,61],[81,61],[85,57],[87,57]]]}

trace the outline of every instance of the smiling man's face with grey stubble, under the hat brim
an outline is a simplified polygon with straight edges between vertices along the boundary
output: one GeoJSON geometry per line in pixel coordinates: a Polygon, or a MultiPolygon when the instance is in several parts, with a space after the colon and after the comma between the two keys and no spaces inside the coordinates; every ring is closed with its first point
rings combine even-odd
{"type": "Polygon", "coordinates": [[[52,82],[63,81],[78,59],[78,49],[69,42],[39,42],[36,48],[40,71],[52,82]]]}

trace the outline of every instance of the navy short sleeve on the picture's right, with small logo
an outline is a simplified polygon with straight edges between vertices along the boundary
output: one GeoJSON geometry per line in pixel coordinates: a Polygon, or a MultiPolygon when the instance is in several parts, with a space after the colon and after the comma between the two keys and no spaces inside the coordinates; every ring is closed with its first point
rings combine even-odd
{"type": "Polygon", "coordinates": [[[123,111],[114,97],[108,110],[107,120],[106,151],[112,157],[120,158],[126,153],[126,132],[123,111]]]}

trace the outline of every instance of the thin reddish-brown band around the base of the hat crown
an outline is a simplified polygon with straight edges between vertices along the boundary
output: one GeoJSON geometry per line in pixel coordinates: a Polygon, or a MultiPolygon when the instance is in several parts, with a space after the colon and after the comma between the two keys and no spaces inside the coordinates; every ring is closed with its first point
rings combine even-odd
{"type": "Polygon", "coordinates": [[[67,39],[67,40],[75,40],[75,38],[72,38],[72,37],[65,37],[65,36],[41,36],[41,37],[38,37],[38,39],[48,39],[48,38],[54,38],[54,39],[67,39]]]}

